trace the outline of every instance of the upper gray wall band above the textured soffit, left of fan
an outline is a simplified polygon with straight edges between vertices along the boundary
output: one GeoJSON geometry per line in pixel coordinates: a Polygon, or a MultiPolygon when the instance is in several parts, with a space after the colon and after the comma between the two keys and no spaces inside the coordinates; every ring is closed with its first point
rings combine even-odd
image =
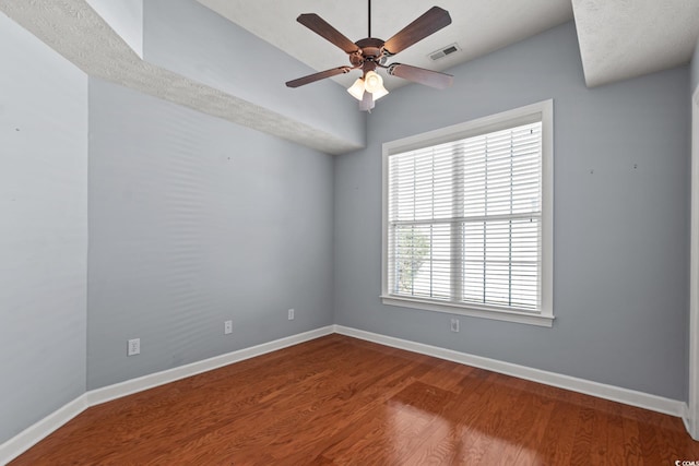
{"type": "MultiPolygon", "coordinates": [[[[351,147],[364,146],[365,116],[342,86],[330,80],[295,89],[284,85],[321,70],[193,0],[149,0],[143,14],[143,56],[149,62],[291,117],[351,147]]],[[[298,25],[299,38],[313,39],[312,34],[298,25]]],[[[337,58],[337,67],[346,63],[342,52],[337,58]]]]}

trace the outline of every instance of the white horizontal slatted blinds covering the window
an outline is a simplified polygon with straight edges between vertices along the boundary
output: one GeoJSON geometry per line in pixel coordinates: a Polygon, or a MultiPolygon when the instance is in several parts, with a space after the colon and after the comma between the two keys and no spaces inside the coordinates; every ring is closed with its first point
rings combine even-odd
{"type": "Polygon", "coordinates": [[[538,312],[542,122],[388,157],[388,292],[538,312]]]}

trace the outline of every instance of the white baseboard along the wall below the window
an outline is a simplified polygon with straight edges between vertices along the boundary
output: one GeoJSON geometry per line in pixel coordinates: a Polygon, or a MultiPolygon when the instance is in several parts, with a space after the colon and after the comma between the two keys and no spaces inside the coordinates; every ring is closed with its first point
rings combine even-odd
{"type": "Polygon", "coordinates": [[[638,406],[640,408],[663,413],[683,419],[685,418],[685,413],[688,411],[686,403],[657,395],[650,395],[648,393],[637,392],[633,390],[621,389],[614,385],[606,385],[604,383],[592,382],[589,380],[578,379],[570,375],[562,375],[555,372],[532,369],[525,366],[498,361],[496,359],[469,355],[466,353],[459,353],[452,349],[439,348],[437,346],[410,342],[407,339],[394,338],[392,336],[365,332],[362,330],[351,328],[342,325],[335,325],[334,330],[335,333],[339,333],[341,335],[347,335],[355,338],[366,339],[368,342],[391,346],[393,348],[405,349],[408,351],[418,353],[420,355],[433,356],[439,359],[446,359],[453,362],[460,362],[462,365],[487,369],[493,372],[499,372],[507,375],[517,377],[519,379],[544,383],[546,385],[553,385],[559,389],[566,389],[572,392],[579,392],[585,395],[592,395],[600,398],[623,403],[625,405],[638,406]]]}

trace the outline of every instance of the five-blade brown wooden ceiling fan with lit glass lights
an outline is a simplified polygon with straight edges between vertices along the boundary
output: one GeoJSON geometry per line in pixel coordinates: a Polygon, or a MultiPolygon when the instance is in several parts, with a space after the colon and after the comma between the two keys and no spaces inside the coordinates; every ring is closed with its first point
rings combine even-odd
{"type": "Polygon", "coordinates": [[[368,37],[353,43],[342,33],[331,26],[316,13],[299,15],[296,21],[308,27],[319,36],[340,47],[350,56],[351,65],[337,67],[318,73],[309,74],[288,81],[288,87],[299,87],[325,77],[348,73],[352,70],[362,69],[362,77],[347,89],[352,96],[359,100],[359,108],[369,111],[374,108],[375,100],[383,97],[389,92],[383,87],[383,80],[376,72],[382,68],[392,76],[399,76],[414,83],[425,84],[436,88],[445,88],[451,85],[453,76],[410,64],[390,63],[386,61],[416,44],[425,37],[436,33],[451,24],[451,16],[447,10],[433,7],[417,20],[405,26],[388,40],[371,37],[371,0],[369,2],[368,37]]]}

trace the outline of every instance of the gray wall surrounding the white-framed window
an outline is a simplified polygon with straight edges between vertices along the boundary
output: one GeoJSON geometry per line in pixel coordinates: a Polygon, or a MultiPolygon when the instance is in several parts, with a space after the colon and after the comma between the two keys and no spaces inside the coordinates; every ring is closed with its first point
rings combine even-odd
{"type": "Polygon", "coordinates": [[[687,68],[588,89],[569,23],[451,71],[381,99],[336,158],[335,323],[686,399],[687,68]],[[554,327],[382,306],[381,143],[552,97],[554,327]]]}

